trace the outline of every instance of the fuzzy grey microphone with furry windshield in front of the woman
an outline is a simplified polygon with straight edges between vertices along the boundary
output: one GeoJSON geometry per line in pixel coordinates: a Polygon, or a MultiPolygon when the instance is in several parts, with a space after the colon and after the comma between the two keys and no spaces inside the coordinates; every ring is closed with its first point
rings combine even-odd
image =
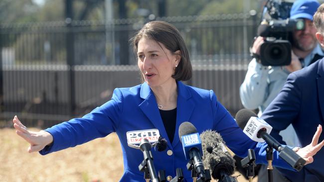
{"type": "Polygon", "coordinates": [[[219,133],[206,130],[200,134],[204,156],[203,163],[212,171],[211,176],[218,182],[237,182],[234,174],[235,160],[227,151],[219,133]]]}

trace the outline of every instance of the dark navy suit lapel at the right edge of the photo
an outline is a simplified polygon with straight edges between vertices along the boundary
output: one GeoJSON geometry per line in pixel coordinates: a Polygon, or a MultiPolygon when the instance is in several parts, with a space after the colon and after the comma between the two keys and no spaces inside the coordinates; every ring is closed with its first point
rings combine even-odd
{"type": "Polygon", "coordinates": [[[318,74],[319,74],[319,77],[317,78],[318,95],[319,95],[319,102],[321,107],[320,109],[324,120],[324,59],[319,61],[318,74]]]}

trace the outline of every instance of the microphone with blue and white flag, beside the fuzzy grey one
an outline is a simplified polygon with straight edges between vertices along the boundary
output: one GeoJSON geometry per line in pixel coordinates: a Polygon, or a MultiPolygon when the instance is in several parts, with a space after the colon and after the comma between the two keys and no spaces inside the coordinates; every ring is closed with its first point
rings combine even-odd
{"type": "Polygon", "coordinates": [[[179,137],[182,143],[182,148],[184,156],[186,159],[189,159],[187,169],[190,170],[193,166],[193,173],[199,176],[198,181],[210,181],[209,174],[206,174],[204,170],[204,165],[202,163],[202,148],[201,140],[197,129],[190,122],[183,122],[179,126],[179,137]]]}

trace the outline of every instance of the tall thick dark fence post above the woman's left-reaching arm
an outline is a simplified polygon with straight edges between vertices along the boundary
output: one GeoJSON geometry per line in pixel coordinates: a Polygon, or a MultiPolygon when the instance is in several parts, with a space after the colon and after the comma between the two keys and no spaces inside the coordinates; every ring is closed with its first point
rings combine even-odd
{"type": "Polygon", "coordinates": [[[67,26],[66,32],[66,62],[69,69],[69,97],[70,97],[70,114],[76,115],[75,103],[75,76],[74,76],[74,31],[73,31],[73,3],[72,0],[65,0],[65,23],[67,26]]]}

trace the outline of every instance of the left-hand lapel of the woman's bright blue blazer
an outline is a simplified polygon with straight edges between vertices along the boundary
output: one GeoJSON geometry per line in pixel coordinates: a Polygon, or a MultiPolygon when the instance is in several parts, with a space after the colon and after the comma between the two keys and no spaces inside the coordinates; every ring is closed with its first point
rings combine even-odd
{"type": "Polygon", "coordinates": [[[171,143],[169,142],[170,140],[167,137],[164,124],[160,115],[160,111],[158,109],[157,100],[150,86],[147,83],[142,84],[140,96],[144,99],[144,101],[139,105],[139,107],[149,118],[149,120],[153,123],[155,128],[159,130],[160,136],[162,136],[168,141],[168,147],[171,147],[171,143]]]}

